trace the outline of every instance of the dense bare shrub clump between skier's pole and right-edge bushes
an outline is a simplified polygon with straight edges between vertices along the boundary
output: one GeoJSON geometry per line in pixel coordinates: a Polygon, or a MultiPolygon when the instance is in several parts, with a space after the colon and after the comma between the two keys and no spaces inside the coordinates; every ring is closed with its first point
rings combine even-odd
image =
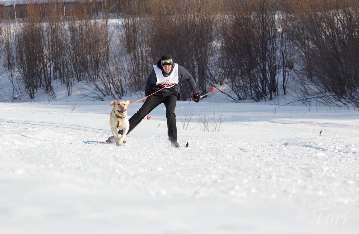
{"type": "Polygon", "coordinates": [[[275,0],[229,1],[225,6],[221,67],[234,94],[228,94],[231,98],[260,101],[278,94],[284,56],[280,44],[286,40],[280,35],[278,8],[275,0]]]}

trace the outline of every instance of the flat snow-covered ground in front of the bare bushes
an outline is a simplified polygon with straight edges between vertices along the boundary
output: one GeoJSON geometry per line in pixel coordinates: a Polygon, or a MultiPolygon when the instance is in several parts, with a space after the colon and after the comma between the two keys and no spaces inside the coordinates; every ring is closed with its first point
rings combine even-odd
{"type": "Polygon", "coordinates": [[[0,233],[357,233],[358,111],[216,95],[177,102],[181,148],[164,106],[116,147],[83,143],[111,136],[111,99],[1,102],[0,233]]]}

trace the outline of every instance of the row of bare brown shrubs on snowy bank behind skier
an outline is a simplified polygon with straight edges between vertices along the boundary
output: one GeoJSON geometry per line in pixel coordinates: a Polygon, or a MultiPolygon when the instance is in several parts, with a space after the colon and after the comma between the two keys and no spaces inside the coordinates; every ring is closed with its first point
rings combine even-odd
{"type": "Polygon", "coordinates": [[[202,93],[215,86],[233,101],[270,100],[291,83],[304,104],[359,106],[357,0],[80,3],[29,2],[16,20],[2,13],[0,56],[14,98],[55,99],[59,84],[71,95],[77,82],[95,99],[140,97],[152,64],[171,54],[202,93]]]}

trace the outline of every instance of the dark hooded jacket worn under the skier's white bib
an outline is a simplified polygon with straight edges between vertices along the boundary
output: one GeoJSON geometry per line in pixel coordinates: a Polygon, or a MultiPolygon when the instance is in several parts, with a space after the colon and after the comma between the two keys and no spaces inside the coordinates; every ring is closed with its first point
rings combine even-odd
{"type": "MultiPolygon", "coordinates": [[[[173,63],[171,71],[169,73],[165,73],[162,66],[160,65],[160,60],[158,60],[158,62],[157,62],[157,67],[162,70],[162,74],[164,75],[164,77],[168,77],[169,75],[171,75],[174,66],[178,66],[178,78],[186,81],[188,83],[188,86],[190,87],[191,91],[193,93],[196,93],[197,92],[197,84],[196,84],[195,80],[193,79],[192,75],[190,74],[190,72],[188,72],[185,68],[183,68],[182,66],[180,66],[178,64],[173,63]]],[[[154,68],[152,68],[152,70],[146,80],[146,84],[145,84],[146,96],[148,96],[151,93],[156,92],[162,88],[161,86],[156,85],[156,82],[157,82],[156,73],[155,73],[154,68]]],[[[180,92],[180,86],[178,84],[173,86],[173,88],[176,89],[178,92],[180,92]]],[[[174,92],[169,90],[168,88],[164,88],[157,93],[167,94],[167,93],[174,93],[174,92]]]]}

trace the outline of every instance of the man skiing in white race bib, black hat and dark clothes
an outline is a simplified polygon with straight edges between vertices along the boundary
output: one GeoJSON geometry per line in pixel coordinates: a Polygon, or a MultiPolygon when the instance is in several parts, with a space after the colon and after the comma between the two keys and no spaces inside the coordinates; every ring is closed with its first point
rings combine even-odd
{"type": "MultiPolygon", "coordinates": [[[[171,142],[172,147],[180,147],[180,144],[177,142],[176,114],[174,113],[176,102],[180,99],[179,79],[185,80],[188,83],[188,86],[193,92],[195,102],[200,101],[200,94],[197,92],[197,84],[188,70],[177,63],[173,63],[171,55],[162,55],[161,59],[158,60],[157,65],[153,65],[146,80],[145,94],[146,96],[149,96],[151,93],[156,92],[163,87],[165,88],[146,98],[146,101],[137,113],[129,119],[130,129],[127,134],[130,133],[132,129],[134,129],[134,127],[136,127],[155,107],[163,103],[166,107],[168,140],[171,142]]],[[[120,131],[118,131],[118,133],[120,133],[120,131]]],[[[106,142],[115,142],[115,138],[111,136],[106,142]]]]}

